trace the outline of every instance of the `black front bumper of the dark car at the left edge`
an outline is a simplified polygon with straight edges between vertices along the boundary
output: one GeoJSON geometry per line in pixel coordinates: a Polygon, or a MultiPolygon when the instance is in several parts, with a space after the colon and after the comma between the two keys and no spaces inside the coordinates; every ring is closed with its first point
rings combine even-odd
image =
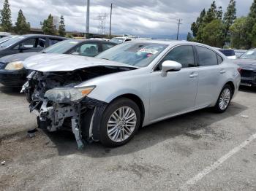
{"type": "Polygon", "coordinates": [[[26,69],[8,71],[0,69],[0,83],[8,87],[21,87],[26,82],[26,69]]]}

